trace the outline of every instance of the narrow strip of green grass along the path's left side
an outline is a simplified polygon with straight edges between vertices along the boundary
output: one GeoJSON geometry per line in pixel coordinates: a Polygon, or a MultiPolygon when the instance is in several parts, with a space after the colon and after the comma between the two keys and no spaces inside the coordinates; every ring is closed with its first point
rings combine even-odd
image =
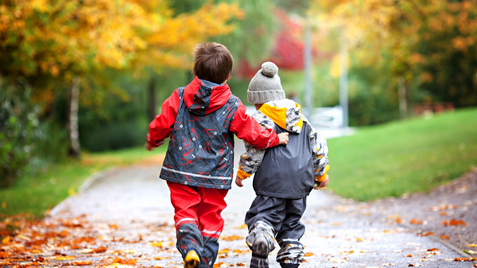
{"type": "Polygon", "coordinates": [[[44,212],[76,192],[84,180],[93,173],[116,165],[159,157],[167,150],[167,143],[154,152],[136,147],[104,153],[83,154],[81,159],[67,159],[52,164],[44,174],[24,176],[13,186],[0,189],[0,217],[28,213],[41,217],[44,212]]]}

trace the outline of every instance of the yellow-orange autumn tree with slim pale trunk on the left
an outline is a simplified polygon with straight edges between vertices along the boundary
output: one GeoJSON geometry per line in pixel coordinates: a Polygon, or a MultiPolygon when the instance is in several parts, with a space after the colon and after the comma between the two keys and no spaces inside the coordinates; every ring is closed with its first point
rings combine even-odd
{"type": "Polygon", "coordinates": [[[175,15],[166,0],[2,1],[0,75],[10,82],[26,78],[47,103],[58,85],[70,85],[69,132],[77,155],[83,77],[105,68],[189,68],[194,44],[231,31],[227,22],[242,13],[237,5],[219,3],[175,15]]]}

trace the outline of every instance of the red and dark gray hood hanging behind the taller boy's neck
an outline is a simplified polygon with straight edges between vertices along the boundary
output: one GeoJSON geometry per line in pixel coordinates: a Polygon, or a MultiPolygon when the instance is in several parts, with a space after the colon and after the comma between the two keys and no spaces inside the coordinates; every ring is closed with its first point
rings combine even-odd
{"type": "Polygon", "coordinates": [[[206,115],[224,106],[231,95],[227,84],[207,86],[196,76],[184,89],[184,102],[191,113],[206,115]]]}

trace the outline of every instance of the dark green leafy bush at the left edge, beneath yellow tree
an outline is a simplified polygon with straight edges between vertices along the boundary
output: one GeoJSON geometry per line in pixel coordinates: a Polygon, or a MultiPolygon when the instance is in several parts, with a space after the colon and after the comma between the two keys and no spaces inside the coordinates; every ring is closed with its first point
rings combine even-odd
{"type": "Polygon", "coordinates": [[[22,175],[36,174],[47,160],[62,155],[64,136],[49,122],[40,121],[41,109],[31,102],[24,80],[0,80],[0,187],[22,175]]]}

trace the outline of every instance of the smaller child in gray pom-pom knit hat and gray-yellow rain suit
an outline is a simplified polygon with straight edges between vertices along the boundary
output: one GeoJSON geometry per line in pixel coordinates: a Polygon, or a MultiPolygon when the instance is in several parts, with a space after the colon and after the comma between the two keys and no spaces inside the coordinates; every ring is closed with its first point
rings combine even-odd
{"type": "Polygon", "coordinates": [[[277,262],[282,268],[297,268],[303,260],[300,238],[305,226],[300,219],[305,211],[306,196],[313,188],[328,184],[328,147],[301,114],[298,103],[285,98],[278,67],[265,62],[252,78],[248,100],[255,104],[253,117],[266,129],[288,132],[286,146],[257,149],[245,142],[235,183],[255,173],[253,189],[257,197],[245,216],[249,227],[246,238],[252,250],[250,268],[268,268],[268,254],[280,246],[277,262]]]}

